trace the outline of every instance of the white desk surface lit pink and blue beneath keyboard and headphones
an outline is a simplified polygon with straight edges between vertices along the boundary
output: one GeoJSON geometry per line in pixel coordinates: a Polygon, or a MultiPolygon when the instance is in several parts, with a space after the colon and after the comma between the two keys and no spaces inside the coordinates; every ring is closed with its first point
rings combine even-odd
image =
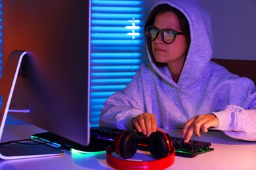
{"type": "MultiPolygon", "coordinates": [[[[180,137],[179,130],[166,130],[180,137]]],[[[34,133],[44,132],[28,124],[7,124],[1,142],[26,139],[34,133]]],[[[221,131],[209,131],[197,139],[211,142],[214,151],[195,158],[175,156],[175,163],[168,169],[256,169],[256,142],[247,142],[227,137],[221,131]]],[[[148,154],[137,152],[133,159],[146,160],[148,154]]],[[[151,158],[150,158],[151,159],[151,158]]],[[[65,151],[63,156],[48,156],[21,160],[0,160],[0,169],[112,169],[106,163],[106,152],[81,154],[65,151]]]]}

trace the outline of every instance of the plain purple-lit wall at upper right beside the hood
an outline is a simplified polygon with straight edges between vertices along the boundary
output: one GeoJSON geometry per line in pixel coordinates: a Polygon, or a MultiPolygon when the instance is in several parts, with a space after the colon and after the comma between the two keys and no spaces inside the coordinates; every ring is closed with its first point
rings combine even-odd
{"type": "Polygon", "coordinates": [[[256,60],[256,1],[199,1],[212,19],[213,58],[256,60]]]}

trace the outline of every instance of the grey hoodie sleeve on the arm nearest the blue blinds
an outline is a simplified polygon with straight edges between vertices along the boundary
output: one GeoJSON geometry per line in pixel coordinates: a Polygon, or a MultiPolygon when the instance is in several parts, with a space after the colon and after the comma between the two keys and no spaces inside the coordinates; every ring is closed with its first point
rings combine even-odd
{"type": "Polygon", "coordinates": [[[140,75],[139,69],[123,91],[108,97],[101,110],[100,126],[132,129],[131,120],[144,112],[140,75]]]}

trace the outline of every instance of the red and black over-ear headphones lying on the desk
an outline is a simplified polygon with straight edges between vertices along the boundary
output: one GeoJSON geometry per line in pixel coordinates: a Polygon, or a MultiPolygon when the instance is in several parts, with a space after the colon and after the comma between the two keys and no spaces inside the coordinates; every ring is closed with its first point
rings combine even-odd
{"type": "Polygon", "coordinates": [[[135,131],[125,130],[117,136],[112,146],[106,148],[106,162],[115,169],[166,169],[175,160],[175,147],[167,133],[156,131],[148,138],[148,148],[156,160],[128,161],[112,156],[117,152],[124,159],[129,159],[137,152],[139,136],[135,131]]]}

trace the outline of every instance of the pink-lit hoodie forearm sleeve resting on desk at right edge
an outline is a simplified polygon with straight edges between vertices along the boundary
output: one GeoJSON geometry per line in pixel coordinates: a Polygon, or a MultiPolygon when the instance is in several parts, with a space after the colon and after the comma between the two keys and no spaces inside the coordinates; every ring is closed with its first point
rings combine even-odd
{"type": "Polygon", "coordinates": [[[256,141],[256,109],[245,110],[237,105],[228,105],[213,114],[219,119],[219,126],[212,129],[224,131],[236,139],[256,141]]]}

